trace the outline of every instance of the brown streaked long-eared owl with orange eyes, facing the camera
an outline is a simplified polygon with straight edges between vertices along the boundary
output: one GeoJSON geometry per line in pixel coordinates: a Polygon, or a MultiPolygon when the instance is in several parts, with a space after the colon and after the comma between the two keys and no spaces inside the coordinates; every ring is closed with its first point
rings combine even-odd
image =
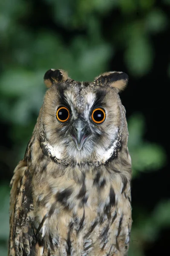
{"type": "Polygon", "coordinates": [[[131,158],[123,72],[93,82],[48,70],[46,91],[10,194],[9,256],[125,256],[131,158]]]}

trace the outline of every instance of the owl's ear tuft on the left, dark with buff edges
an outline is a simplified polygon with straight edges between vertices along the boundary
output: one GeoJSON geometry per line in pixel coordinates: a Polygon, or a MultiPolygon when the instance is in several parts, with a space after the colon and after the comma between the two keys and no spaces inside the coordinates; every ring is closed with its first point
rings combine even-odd
{"type": "Polygon", "coordinates": [[[59,82],[64,82],[68,79],[68,74],[64,70],[50,69],[44,75],[44,83],[48,88],[51,87],[52,84],[58,84],[59,82]]]}

